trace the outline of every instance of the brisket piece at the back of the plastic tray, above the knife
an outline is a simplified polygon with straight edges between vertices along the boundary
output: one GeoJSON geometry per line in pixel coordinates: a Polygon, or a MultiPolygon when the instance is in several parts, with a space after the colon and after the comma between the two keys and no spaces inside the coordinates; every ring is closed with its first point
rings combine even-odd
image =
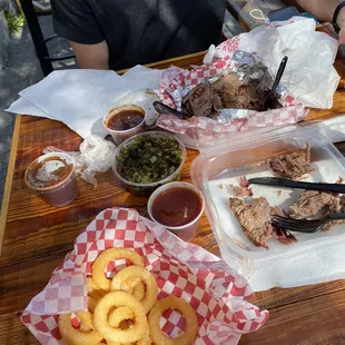
{"type": "Polygon", "coordinates": [[[305,150],[272,158],[268,164],[275,174],[286,178],[297,179],[312,171],[310,145],[307,144],[305,150]]]}

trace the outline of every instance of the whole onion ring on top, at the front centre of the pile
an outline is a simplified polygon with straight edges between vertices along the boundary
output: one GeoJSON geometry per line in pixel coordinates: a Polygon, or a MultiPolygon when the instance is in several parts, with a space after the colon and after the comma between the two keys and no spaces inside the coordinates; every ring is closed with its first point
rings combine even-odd
{"type": "Polygon", "coordinates": [[[141,303],[134,296],[124,292],[112,292],[101,298],[93,313],[95,328],[106,339],[118,343],[137,342],[144,337],[148,323],[141,303]],[[134,313],[132,328],[120,331],[108,324],[108,314],[112,307],[126,306],[134,313]]]}

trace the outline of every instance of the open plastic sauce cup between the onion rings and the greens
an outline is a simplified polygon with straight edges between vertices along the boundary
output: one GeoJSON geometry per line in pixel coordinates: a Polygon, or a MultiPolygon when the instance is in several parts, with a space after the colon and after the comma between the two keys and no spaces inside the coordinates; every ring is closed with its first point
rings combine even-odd
{"type": "Polygon", "coordinates": [[[199,233],[199,228],[200,228],[200,218],[204,214],[205,210],[205,198],[203,196],[203,194],[199,191],[199,189],[191,185],[191,184],[187,184],[187,183],[169,183],[166,184],[159,188],[157,188],[150,196],[148,204],[147,204],[147,210],[148,214],[150,216],[150,218],[157,223],[158,225],[165,227],[166,229],[170,230],[172,234],[175,234],[176,236],[178,236],[180,239],[185,240],[185,241],[190,241],[193,240],[199,233]],[[183,187],[183,188],[189,188],[191,190],[194,190],[200,198],[201,200],[201,208],[199,214],[197,215],[197,217],[195,219],[193,219],[190,223],[181,225],[181,226],[167,226],[165,224],[161,224],[159,221],[157,221],[152,215],[152,205],[154,201],[156,200],[156,198],[162,193],[166,191],[170,188],[176,188],[176,187],[183,187]]]}

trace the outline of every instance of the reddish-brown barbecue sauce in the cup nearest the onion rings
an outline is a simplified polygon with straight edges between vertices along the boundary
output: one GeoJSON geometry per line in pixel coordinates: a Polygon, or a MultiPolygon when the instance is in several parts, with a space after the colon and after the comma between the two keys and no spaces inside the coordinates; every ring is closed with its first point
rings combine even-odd
{"type": "Polygon", "coordinates": [[[166,226],[181,226],[193,221],[201,210],[201,199],[184,187],[167,189],[152,204],[154,218],[166,226]]]}

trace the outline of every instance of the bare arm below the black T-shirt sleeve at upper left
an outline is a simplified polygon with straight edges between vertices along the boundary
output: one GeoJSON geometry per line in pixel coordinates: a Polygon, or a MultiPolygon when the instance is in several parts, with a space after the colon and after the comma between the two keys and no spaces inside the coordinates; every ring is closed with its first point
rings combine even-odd
{"type": "Polygon", "coordinates": [[[81,45],[69,41],[80,68],[109,69],[109,50],[106,41],[97,45],[81,45]]]}

